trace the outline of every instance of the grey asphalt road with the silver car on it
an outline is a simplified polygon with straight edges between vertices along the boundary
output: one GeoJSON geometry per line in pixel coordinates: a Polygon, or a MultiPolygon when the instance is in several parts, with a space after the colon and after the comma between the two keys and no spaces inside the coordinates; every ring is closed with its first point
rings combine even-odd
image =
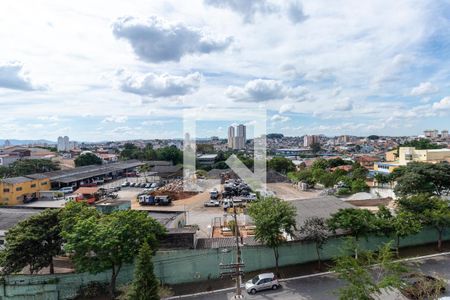
{"type": "MultiPolygon", "coordinates": [[[[437,256],[419,261],[408,262],[412,268],[418,268],[425,274],[433,275],[447,281],[447,291],[442,296],[450,296],[448,286],[450,283],[450,255],[437,256]]],[[[244,299],[252,300],[328,300],[337,299],[335,291],[342,285],[334,275],[322,275],[316,277],[288,280],[281,283],[282,288],[276,291],[261,291],[256,295],[249,295],[243,292],[244,299]]],[[[183,297],[182,299],[208,299],[208,300],[228,300],[234,296],[234,291],[222,291],[205,295],[195,295],[183,297]]],[[[176,299],[174,297],[174,299],[176,299]]],[[[396,300],[407,299],[397,292],[386,292],[380,295],[378,299],[396,300]]]]}

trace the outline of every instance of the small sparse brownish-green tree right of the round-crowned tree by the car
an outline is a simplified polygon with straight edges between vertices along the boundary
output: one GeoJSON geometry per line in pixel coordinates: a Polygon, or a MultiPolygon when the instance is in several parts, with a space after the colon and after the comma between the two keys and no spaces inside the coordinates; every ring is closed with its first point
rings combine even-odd
{"type": "Polygon", "coordinates": [[[317,261],[319,270],[321,269],[320,251],[328,239],[329,232],[324,218],[311,217],[306,219],[299,230],[300,234],[304,235],[306,241],[311,241],[315,244],[317,261]]]}

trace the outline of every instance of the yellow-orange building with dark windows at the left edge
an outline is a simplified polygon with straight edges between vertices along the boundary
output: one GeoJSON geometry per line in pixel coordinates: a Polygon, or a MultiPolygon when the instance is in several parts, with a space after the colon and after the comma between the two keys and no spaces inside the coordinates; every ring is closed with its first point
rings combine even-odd
{"type": "Polygon", "coordinates": [[[0,204],[17,205],[37,198],[39,191],[50,189],[50,180],[43,174],[32,174],[0,180],[0,204]]]}

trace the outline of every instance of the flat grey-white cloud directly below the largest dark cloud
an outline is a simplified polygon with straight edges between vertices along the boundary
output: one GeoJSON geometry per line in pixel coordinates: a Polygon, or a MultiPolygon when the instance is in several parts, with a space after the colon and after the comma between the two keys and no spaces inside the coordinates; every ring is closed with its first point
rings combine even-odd
{"type": "Polygon", "coordinates": [[[119,71],[117,79],[123,92],[151,97],[172,97],[197,91],[202,76],[198,72],[186,76],[174,76],[155,73],[129,74],[119,71]]]}

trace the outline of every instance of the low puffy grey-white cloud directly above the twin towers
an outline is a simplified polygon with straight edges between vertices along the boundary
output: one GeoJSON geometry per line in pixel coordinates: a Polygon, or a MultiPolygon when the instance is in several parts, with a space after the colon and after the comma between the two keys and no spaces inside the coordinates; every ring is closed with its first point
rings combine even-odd
{"type": "Polygon", "coordinates": [[[265,102],[285,98],[305,101],[308,90],[302,86],[286,86],[279,80],[255,79],[247,82],[244,87],[230,86],[225,94],[242,102],[265,102]]]}

